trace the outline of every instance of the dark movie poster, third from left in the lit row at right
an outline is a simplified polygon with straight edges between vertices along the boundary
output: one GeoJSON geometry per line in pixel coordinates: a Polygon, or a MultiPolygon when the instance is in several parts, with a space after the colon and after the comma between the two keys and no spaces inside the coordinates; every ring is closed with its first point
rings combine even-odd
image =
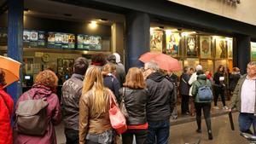
{"type": "Polygon", "coordinates": [[[187,56],[196,57],[197,56],[197,47],[196,47],[196,37],[186,37],[186,48],[187,56]]]}

